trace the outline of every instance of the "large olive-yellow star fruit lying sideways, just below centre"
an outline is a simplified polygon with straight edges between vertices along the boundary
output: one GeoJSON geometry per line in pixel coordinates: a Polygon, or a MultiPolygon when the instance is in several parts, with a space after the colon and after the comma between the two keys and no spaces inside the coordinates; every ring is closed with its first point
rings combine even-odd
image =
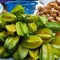
{"type": "Polygon", "coordinates": [[[41,46],[42,43],[43,43],[43,40],[36,35],[30,35],[22,41],[22,45],[30,49],[35,49],[41,46]]]}

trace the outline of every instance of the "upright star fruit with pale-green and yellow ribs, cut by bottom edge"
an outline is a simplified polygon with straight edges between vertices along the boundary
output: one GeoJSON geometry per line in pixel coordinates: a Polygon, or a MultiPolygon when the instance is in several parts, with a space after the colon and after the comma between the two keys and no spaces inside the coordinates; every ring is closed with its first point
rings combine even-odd
{"type": "Polygon", "coordinates": [[[53,48],[49,43],[43,44],[40,51],[41,60],[54,60],[53,48]]]}

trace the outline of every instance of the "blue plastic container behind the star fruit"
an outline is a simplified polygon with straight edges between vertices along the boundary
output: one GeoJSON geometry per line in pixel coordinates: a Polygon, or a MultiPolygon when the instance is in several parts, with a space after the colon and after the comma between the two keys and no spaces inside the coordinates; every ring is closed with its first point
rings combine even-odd
{"type": "Polygon", "coordinates": [[[8,12],[10,12],[16,5],[20,4],[23,7],[25,7],[25,13],[33,14],[37,2],[34,2],[34,1],[9,1],[9,2],[5,2],[5,4],[7,6],[8,12]]]}

